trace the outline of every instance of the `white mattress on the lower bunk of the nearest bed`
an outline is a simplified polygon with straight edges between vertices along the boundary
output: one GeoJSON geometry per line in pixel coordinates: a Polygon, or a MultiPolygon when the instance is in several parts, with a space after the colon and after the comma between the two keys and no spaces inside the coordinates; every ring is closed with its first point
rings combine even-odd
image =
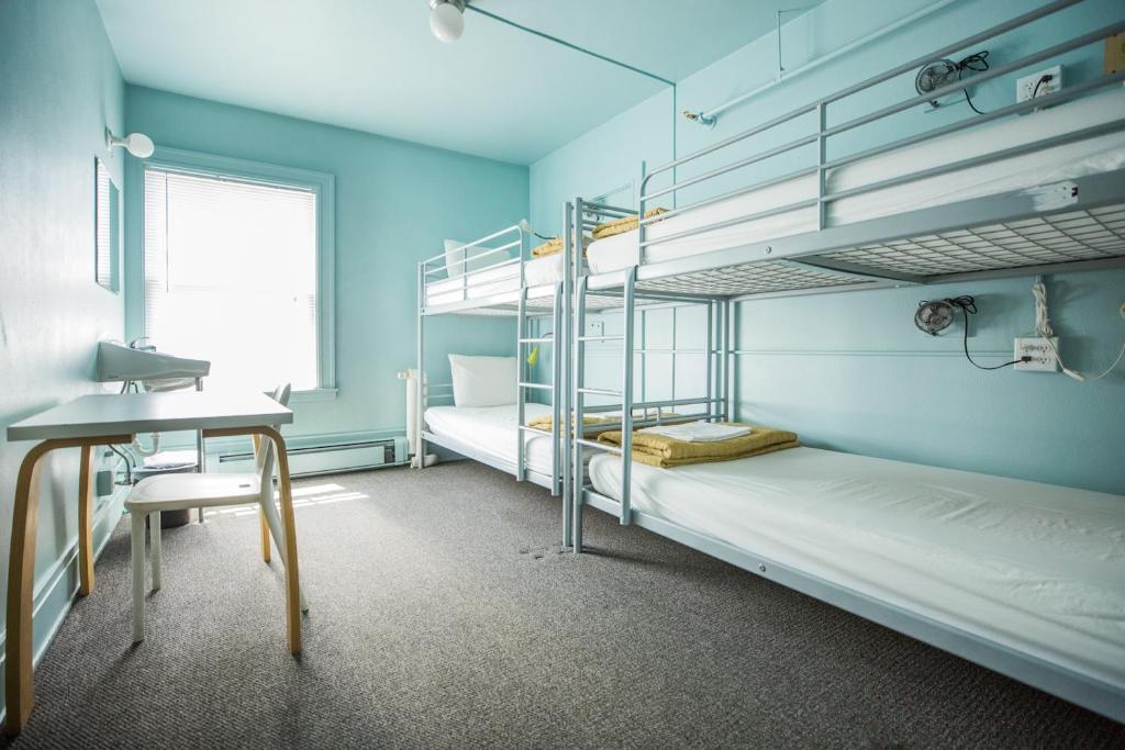
{"type": "MultiPolygon", "coordinates": [[[[621,460],[590,462],[620,499],[621,460]]],[[[632,506],[1125,687],[1125,497],[834,451],[632,467],[632,506]]]]}

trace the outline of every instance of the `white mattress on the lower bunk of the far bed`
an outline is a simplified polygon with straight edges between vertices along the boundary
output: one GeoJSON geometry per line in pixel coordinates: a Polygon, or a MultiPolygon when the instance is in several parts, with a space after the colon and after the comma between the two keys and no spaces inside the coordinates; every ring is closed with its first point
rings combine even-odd
{"type": "MultiPolygon", "coordinates": [[[[515,463],[516,406],[432,406],[425,410],[430,431],[439,437],[447,436],[474,445],[494,458],[515,463]]],[[[524,417],[531,422],[547,416],[551,407],[546,404],[525,404],[524,417]]],[[[552,441],[550,433],[524,432],[526,466],[532,471],[551,476],[552,441]]]]}

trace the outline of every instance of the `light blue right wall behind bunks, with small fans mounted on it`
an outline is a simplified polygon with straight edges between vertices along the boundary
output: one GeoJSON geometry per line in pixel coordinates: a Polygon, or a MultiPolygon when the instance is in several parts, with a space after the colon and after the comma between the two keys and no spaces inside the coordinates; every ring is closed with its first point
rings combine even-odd
{"type": "MultiPolygon", "coordinates": [[[[784,64],[796,67],[922,4],[921,0],[829,0],[786,25],[784,64]]],[[[713,129],[673,118],[670,92],[654,97],[531,165],[532,222],[541,232],[557,232],[564,200],[598,196],[620,186],[628,188],[614,200],[636,205],[642,159],[650,168],[659,165],[673,154],[691,153],[1037,4],[966,0],[730,110],[713,129]]],[[[992,63],[1002,64],[1123,16],[1125,8],[1119,3],[1091,0],[964,54],[988,48],[992,63]]],[[[775,45],[774,36],[764,37],[688,76],[677,87],[676,109],[706,109],[768,81],[775,65],[775,45]]],[[[1068,55],[1062,61],[1064,82],[1100,73],[1100,45],[1068,55]]],[[[830,110],[829,124],[904,99],[912,94],[912,75],[907,75],[880,85],[856,102],[830,110]]],[[[976,87],[973,94],[982,110],[1005,106],[1015,99],[1014,79],[976,87]]],[[[964,105],[936,112],[916,108],[874,132],[861,129],[855,137],[840,138],[829,156],[966,116],[971,112],[964,105]]],[[[759,139],[754,146],[762,148],[777,143],[776,138],[794,137],[794,130],[773,141],[759,139]]],[[[734,157],[728,153],[724,159],[734,157]]],[[[753,174],[744,171],[731,175],[711,189],[731,189],[793,168],[792,162],[776,161],[755,166],[753,174]]],[[[718,163],[703,160],[700,165],[683,168],[681,177],[718,163]]],[[[912,326],[919,299],[975,295],[981,314],[972,326],[970,346],[982,352],[984,363],[1000,363],[1005,361],[1000,358],[1010,355],[1011,340],[1033,327],[1028,291],[1032,281],[741,305],[739,349],[744,353],[738,358],[738,415],[792,427],[810,445],[1125,493],[1125,464],[1120,461],[1125,370],[1087,385],[1061,374],[981,372],[964,361],[958,341],[928,338],[912,326]]],[[[1068,362],[1087,370],[1109,364],[1125,337],[1125,323],[1117,315],[1118,305],[1125,301],[1125,272],[1059,275],[1050,282],[1053,317],[1063,336],[1068,362]]],[[[650,346],[668,343],[667,315],[662,311],[649,316],[646,337],[650,346]]],[[[685,325],[691,314],[681,317],[677,343],[691,345],[691,336],[702,324],[685,325]]],[[[606,316],[606,323],[608,329],[619,324],[613,316],[606,316]]],[[[597,385],[613,387],[618,358],[595,351],[592,360],[597,385]]],[[[668,392],[669,364],[670,358],[649,358],[650,395],[668,392]]],[[[677,396],[690,395],[691,374],[698,374],[700,368],[701,363],[691,358],[677,358],[677,396]]]]}

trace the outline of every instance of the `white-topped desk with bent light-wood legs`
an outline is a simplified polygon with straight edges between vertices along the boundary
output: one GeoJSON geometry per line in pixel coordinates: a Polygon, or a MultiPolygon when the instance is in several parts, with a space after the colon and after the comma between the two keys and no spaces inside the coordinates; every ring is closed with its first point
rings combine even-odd
{"type": "Polygon", "coordinates": [[[286,634],[289,650],[300,652],[300,595],[297,533],[289,486],[289,459],[278,425],[292,412],[262,394],[169,392],[82,396],[17,422],[8,440],[39,440],[19,467],[8,564],[8,633],[4,669],[9,732],[19,732],[35,705],[32,668],[32,590],[35,586],[35,535],[38,522],[39,459],[60,448],[82,449],[79,475],[79,593],[93,589],[93,448],[130,443],[146,432],[201,430],[204,437],[258,435],[277,446],[281,521],[289,563],[286,571],[286,634]]]}

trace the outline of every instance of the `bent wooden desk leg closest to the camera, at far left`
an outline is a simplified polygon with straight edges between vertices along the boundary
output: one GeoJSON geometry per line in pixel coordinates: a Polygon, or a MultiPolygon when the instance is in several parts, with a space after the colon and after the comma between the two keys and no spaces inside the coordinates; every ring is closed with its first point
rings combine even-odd
{"type": "Polygon", "coordinates": [[[32,589],[35,587],[35,534],[39,523],[39,459],[55,448],[44,441],[19,464],[8,559],[8,633],[4,640],[4,726],[10,734],[24,729],[35,706],[32,671],[32,589]]]}

